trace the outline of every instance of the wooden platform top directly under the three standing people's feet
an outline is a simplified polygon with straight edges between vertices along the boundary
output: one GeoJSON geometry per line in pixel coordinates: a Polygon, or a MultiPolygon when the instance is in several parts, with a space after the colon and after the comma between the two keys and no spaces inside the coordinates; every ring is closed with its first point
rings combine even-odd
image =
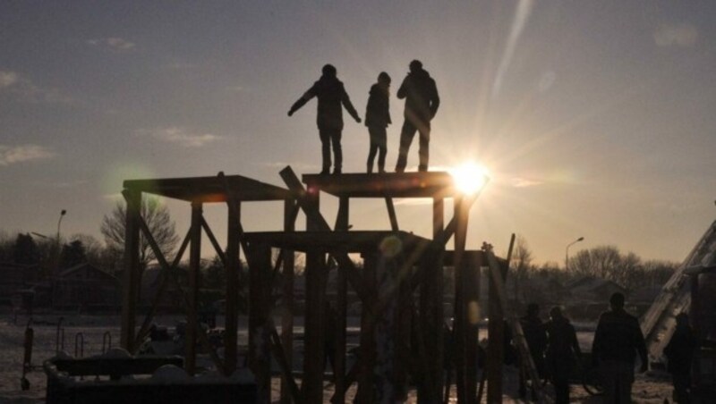
{"type": "Polygon", "coordinates": [[[338,198],[449,198],[459,193],[447,172],[304,174],[303,183],[338,198]]]}

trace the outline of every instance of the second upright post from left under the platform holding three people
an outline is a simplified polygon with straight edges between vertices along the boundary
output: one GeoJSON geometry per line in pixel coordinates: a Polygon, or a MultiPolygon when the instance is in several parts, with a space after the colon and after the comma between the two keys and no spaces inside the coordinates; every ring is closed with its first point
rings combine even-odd
{"type": "MultiPolygon", "coordinates": [[[[349,199],[340,198],[338,206],[338,217],[336,231],[348,231],[349,199]]],[[[328,332],[336,333],[336,352],[334,352],[335,363],[333,364],[334,383],[336,383],[336,394],[334,402],[345,402],[345,326],[348,315],[348,281],[345,274],[345,267],[337,267],[337,290],[336,290],[336,330],[328,332]]]]}

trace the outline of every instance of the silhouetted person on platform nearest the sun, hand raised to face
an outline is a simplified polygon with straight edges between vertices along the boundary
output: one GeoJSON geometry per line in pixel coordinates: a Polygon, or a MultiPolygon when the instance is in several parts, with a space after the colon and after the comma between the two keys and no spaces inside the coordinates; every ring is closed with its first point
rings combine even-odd
{"type": "Polygon", "coordinates": [[[397,97],[405,98],[405,122],[400,130],[400,148],[398,150],[396,173],[405,172],[408,159],[408,149],[413,142],[415,131],[420,132],[418,154],[420,164],[418,171],[428,171],[430,157],[430,121],[438,112],[440,98],[435,80],[422,69],[422,62],[413,60],[410,63],[410,72],[397,90],[397,97]]]}

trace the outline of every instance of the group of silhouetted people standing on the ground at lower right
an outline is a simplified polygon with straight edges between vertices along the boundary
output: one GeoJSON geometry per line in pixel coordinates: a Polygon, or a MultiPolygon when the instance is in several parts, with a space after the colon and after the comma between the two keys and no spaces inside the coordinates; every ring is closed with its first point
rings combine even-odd
{"type": "MultiPolygon", "coordinates": [[[[626,313],[624,302],[622,293],[611,295],[609,310],[601,314],[592,341],[592,366],[598,369],[604,402],[608,403],[630,403],[637,355],[640,373],[646,372],[649,363],[639,321],[626,313]]],[[[537,373],[554,385],[557,404],[568,403],[569,376],[580,365],[578,359],[582,356],[575,327],[559,307],[552,307],[550,321],[542,323],[540,307],[534,303],[528,305],[520,324],[537,373]]],[[[664,349],[667,370],[673,378],[674,399],[679,403],[689,402],[695,346],[688,316],[679,314],[674,335],[664,349]]],[[[524,381],[520,384],[520,395],[524,398],[524,381]]]]}

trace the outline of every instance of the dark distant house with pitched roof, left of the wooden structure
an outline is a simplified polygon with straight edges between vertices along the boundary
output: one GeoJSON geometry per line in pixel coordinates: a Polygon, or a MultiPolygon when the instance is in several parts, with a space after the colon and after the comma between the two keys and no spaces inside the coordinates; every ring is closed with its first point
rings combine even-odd
{"type": "Polygon", "coordinates": [[[52,280],[55,308],[116,308],[121,304],[122,286],[117,278],[91,264],[64,269],[52,280]]]}

